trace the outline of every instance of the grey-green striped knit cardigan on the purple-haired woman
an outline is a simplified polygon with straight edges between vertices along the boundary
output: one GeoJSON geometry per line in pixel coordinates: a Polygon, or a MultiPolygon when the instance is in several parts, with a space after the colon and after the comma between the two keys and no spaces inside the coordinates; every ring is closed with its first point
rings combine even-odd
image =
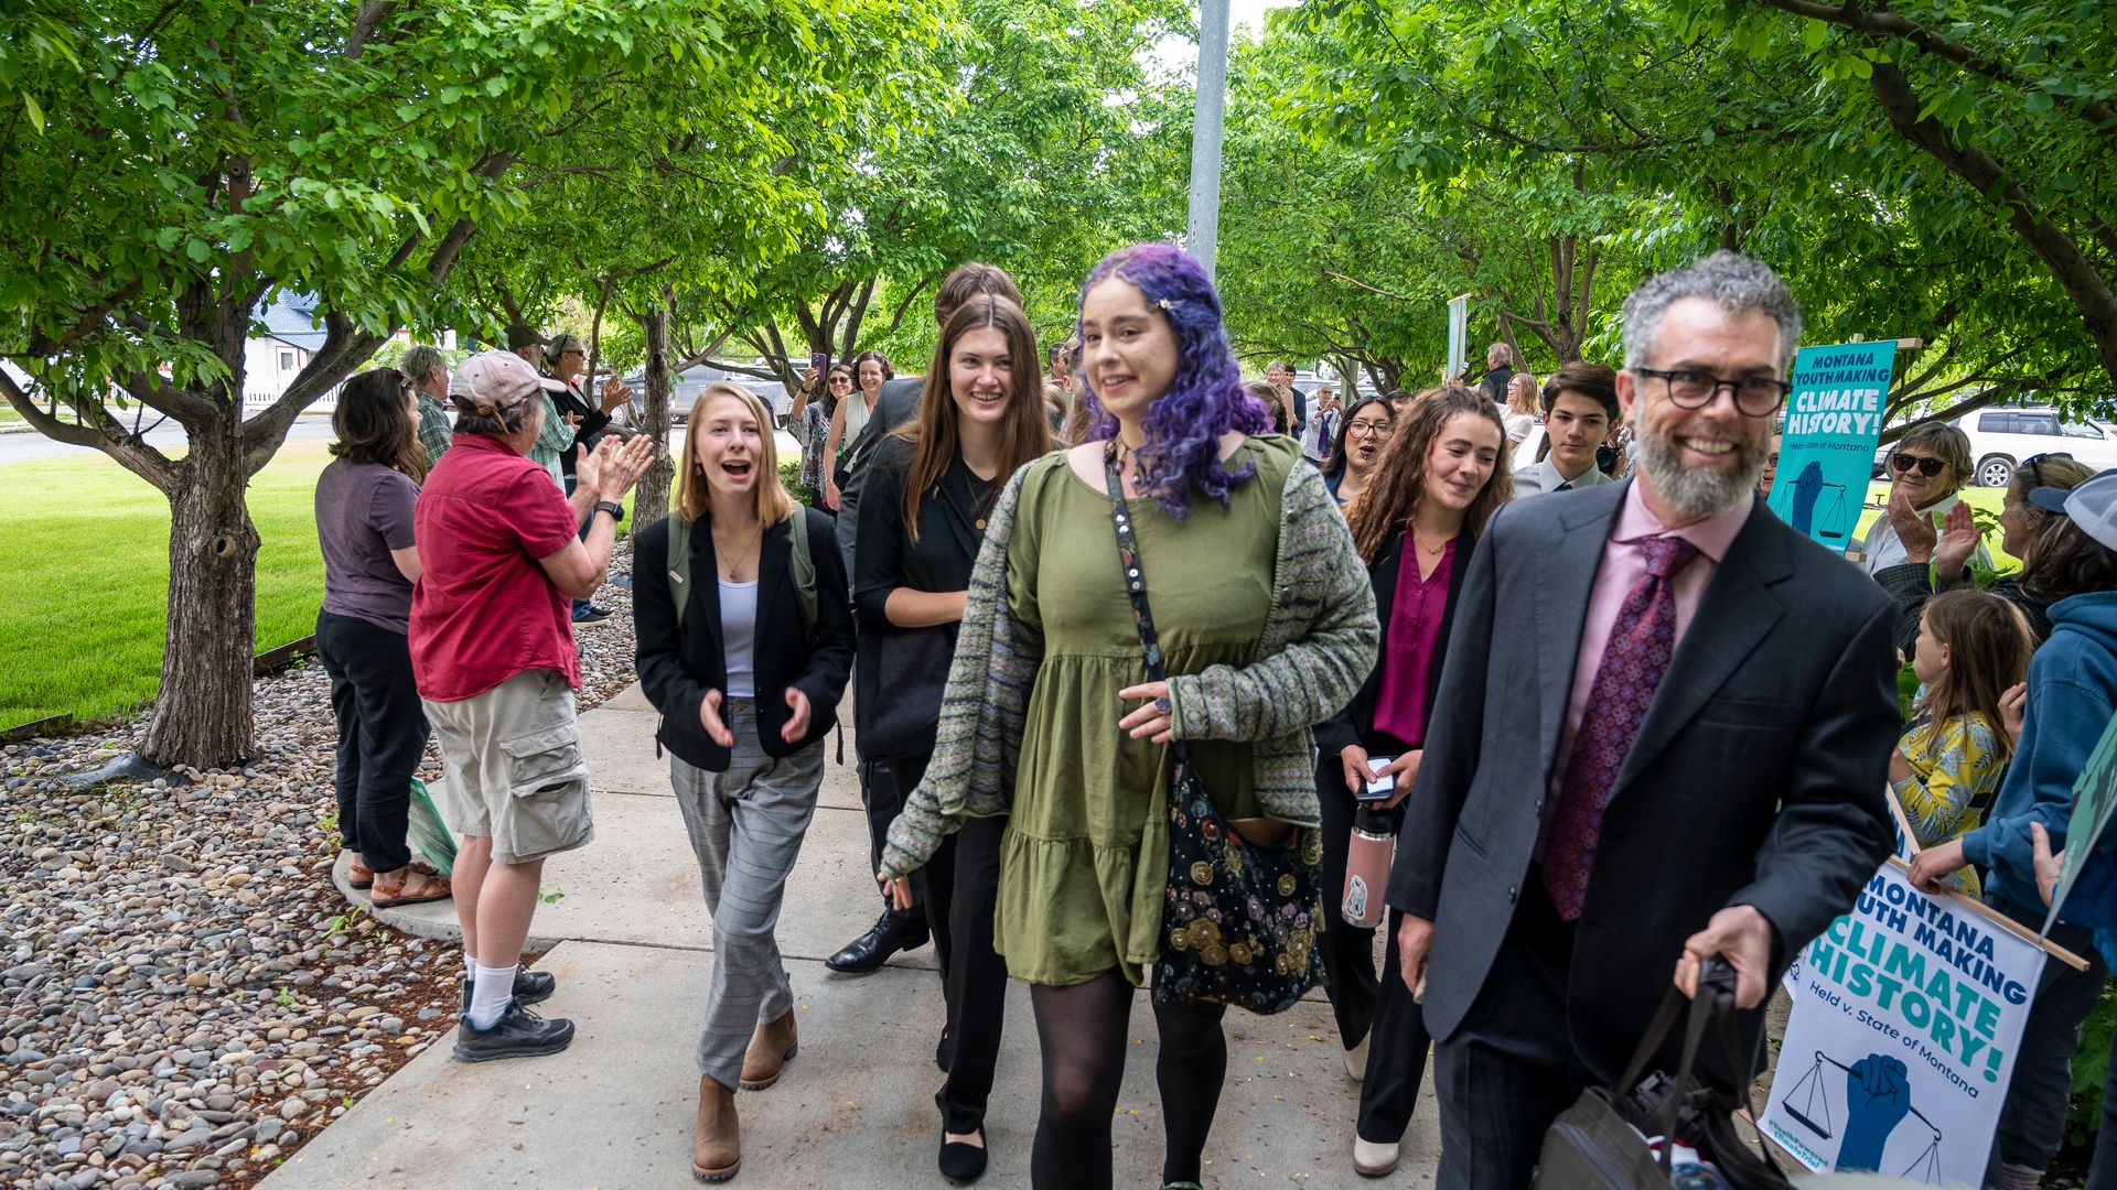
{"type": "MultiPolygon", "coordinates": [[[[1031,464],[1008,481],[984,525],[970,574],[963,629],[940,703],[940,733],[925,779],[889,824],[881,875],[902,877],[925,862],[965,817],[999,817],[1014,803],[1014,773],[1029,690],[1044,663],[1042,631],[1014,618],[1008,601],[1008,540],[1031,464]]],[[[1382,639],[1368,567],[1353,548],[1338,502],[1302,459],[1287,474],[1272,606],[1255,661],[1215,665],[1169,680],[1177,739],[1251,741],[1255,794],[1266,815],[1317,826],[1310,728],[1338,714],[1374,669],[1382,639]]],[[[1107,525],[1101,525],[1107,531],[1107,525]]],[[[1116,542],[1111,542],[1116,551],[1116,542]]]]}

